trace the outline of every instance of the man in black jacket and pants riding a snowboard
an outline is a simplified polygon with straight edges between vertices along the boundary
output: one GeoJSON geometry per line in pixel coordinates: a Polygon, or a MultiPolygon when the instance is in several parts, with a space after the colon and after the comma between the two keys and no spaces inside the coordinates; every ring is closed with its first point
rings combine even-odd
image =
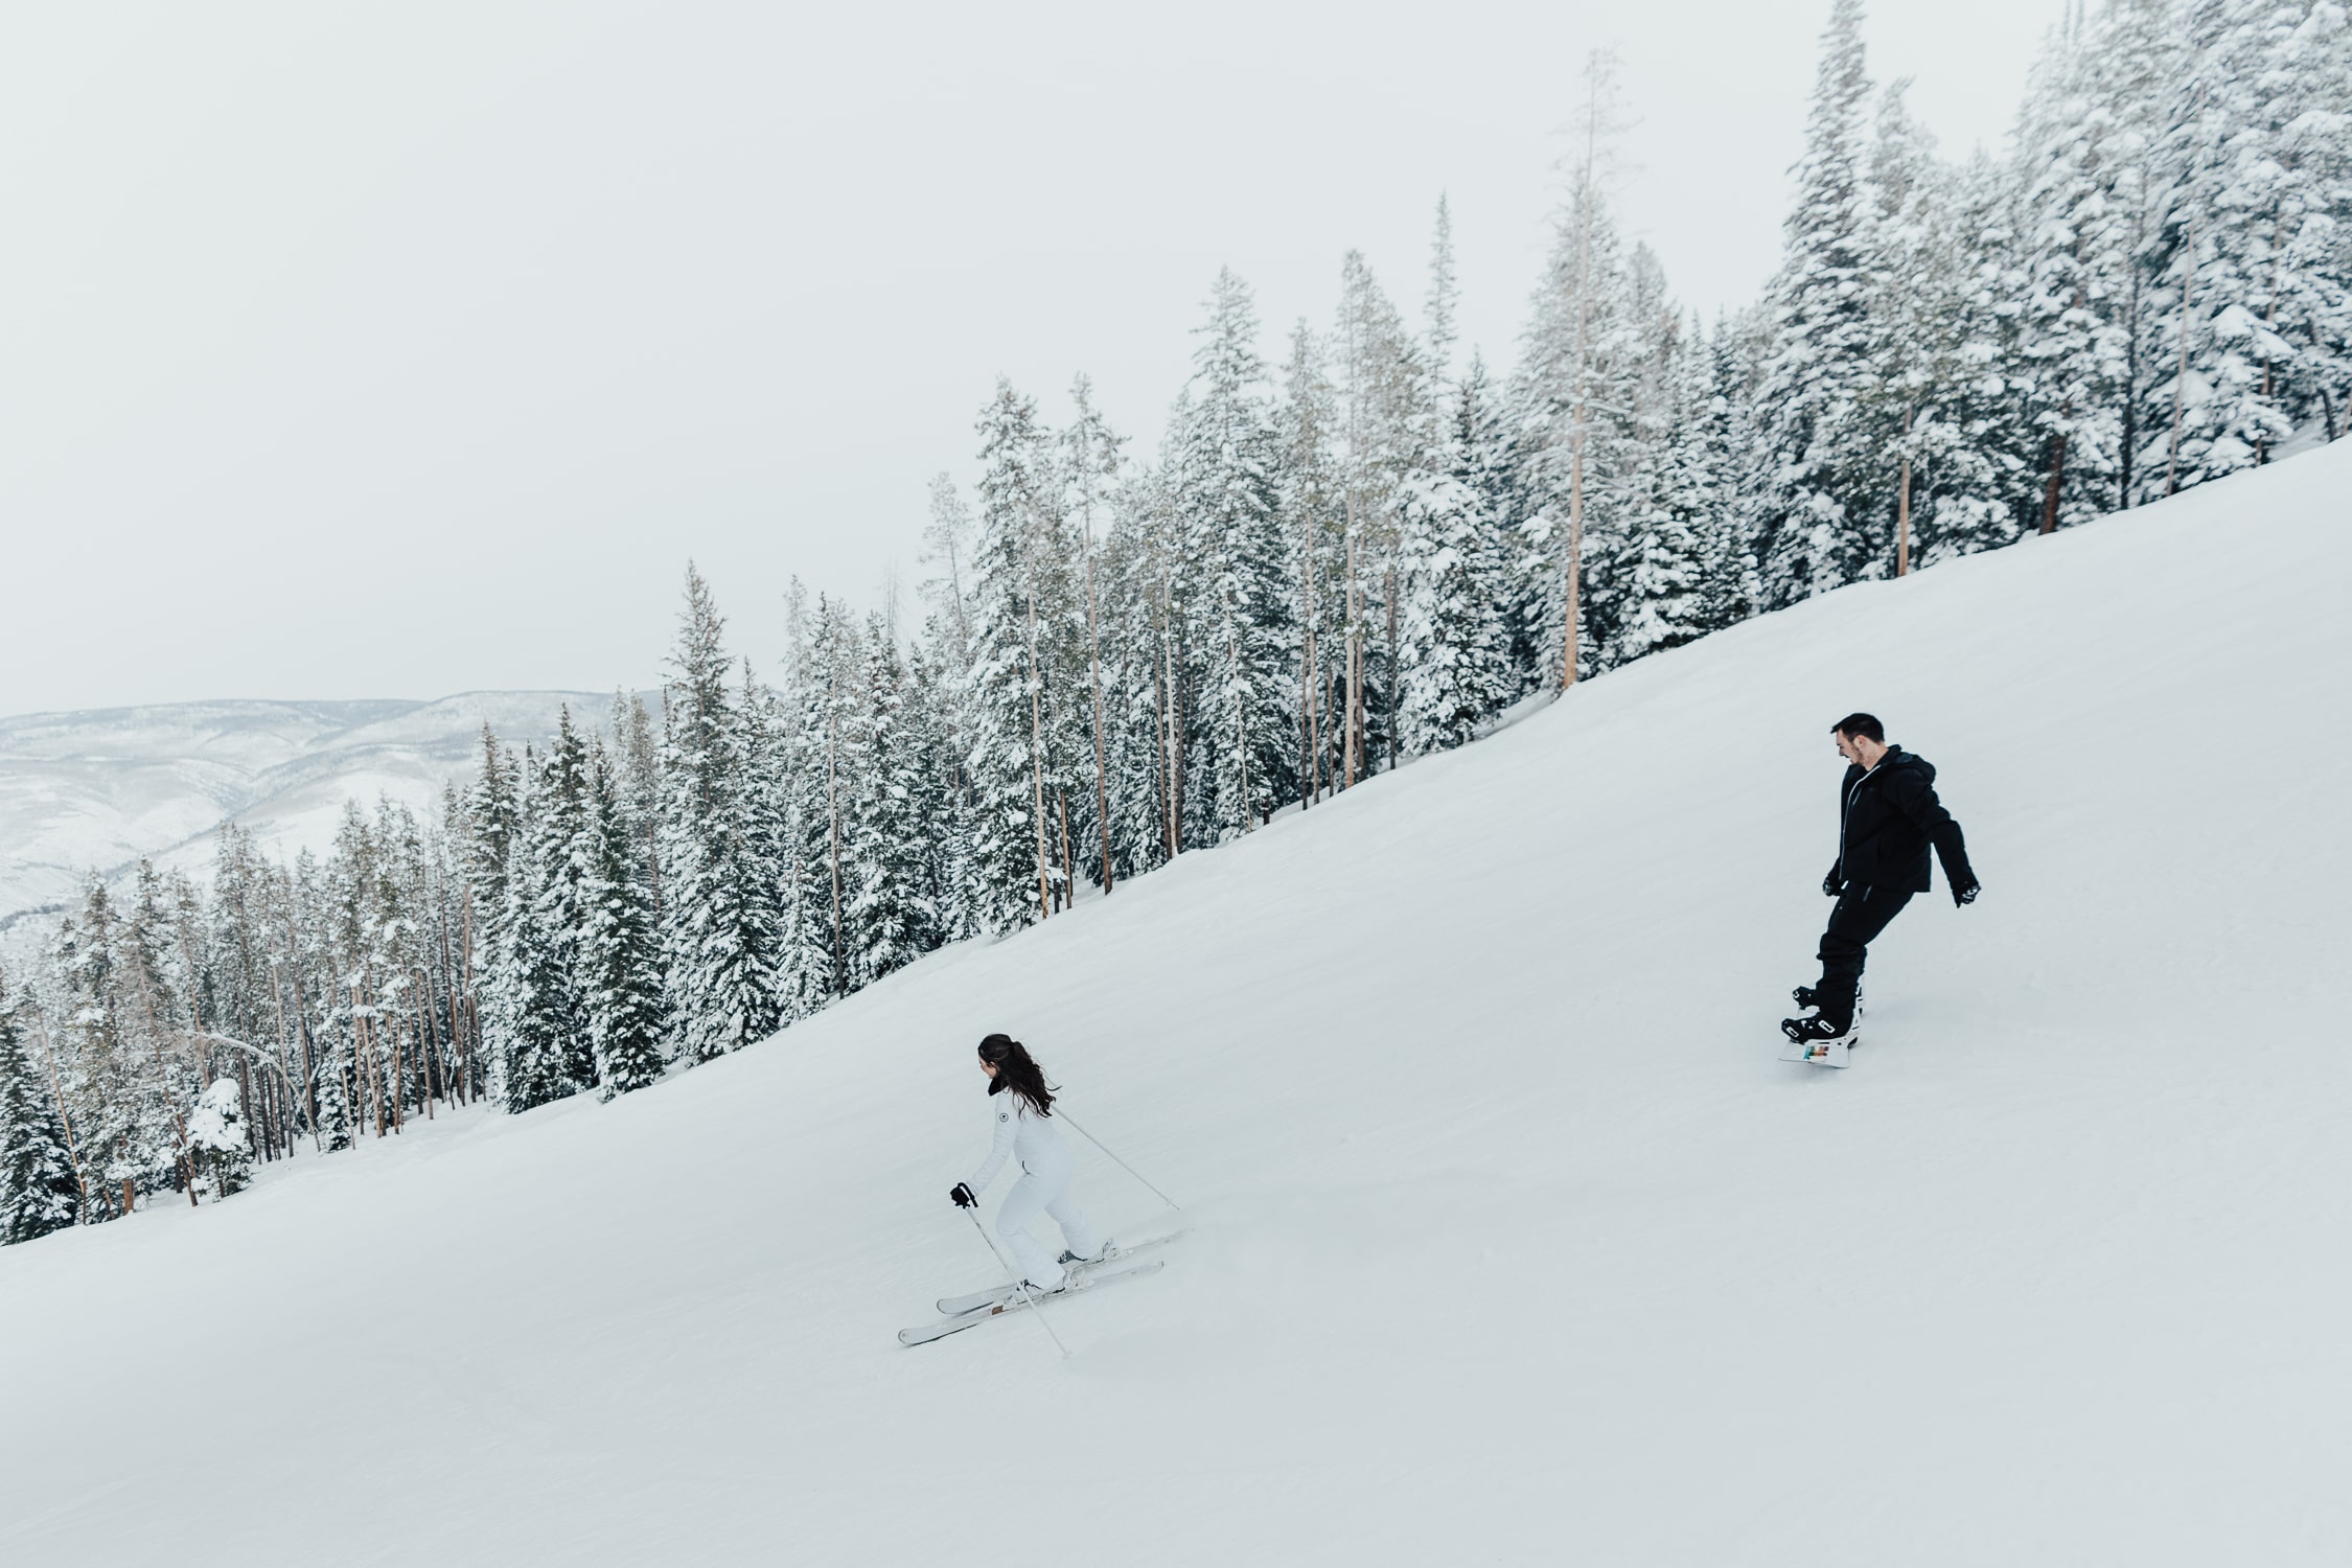
{"type": "Polygon", "coordinates": [[[1886,745],[1886,729],[1867,712],[1849,712],[1830,733],[1849,764],[1837,795],[1837,860],[1820,879],[1837,907],[1820,936],[1820,983],[1792,992],[1813,1013],[1780,1020],[1797,1044],[1842,1041],[1853,1030],[1867,947],[1912,893],[1929,889],[1929,844],[1943,860],[1952,903],[1976,903],[1978,893],[1959,823],[1936,799],[1936,764],[1886,745]]]}

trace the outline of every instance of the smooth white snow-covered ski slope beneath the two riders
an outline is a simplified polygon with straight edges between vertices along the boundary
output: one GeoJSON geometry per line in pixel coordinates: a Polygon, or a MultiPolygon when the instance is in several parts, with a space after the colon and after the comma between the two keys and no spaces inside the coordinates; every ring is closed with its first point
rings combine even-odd
{"type": "Polygon", "coordinates": [[[654,1091],[7,1248],[0,1559],[2343,1563],[2347,491],[1849,588],[654,1091]],[[1825,1072],[1849,708],[1985,896],[1825,1072]],[[995,1276],[985,1030],[1192,1232],[1068,1361],[894,1338],[995,1276]]]}

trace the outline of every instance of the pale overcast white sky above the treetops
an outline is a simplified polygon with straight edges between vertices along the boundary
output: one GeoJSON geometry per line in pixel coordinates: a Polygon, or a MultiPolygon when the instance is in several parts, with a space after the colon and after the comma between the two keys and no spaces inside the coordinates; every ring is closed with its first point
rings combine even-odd
{"type": "MultiPolygon", "coordinates": [[[[2058,0],[1879,0],[1962,153],[2058,0]]],[[[1157,435],[1218,266],[1515,334],[1616,42],[1696,306],[1769,275],[1828,0],[54,5],[0,21],[0,712],[649,684],[696,557],[913,578],[995,376],[1157,435]]]]}

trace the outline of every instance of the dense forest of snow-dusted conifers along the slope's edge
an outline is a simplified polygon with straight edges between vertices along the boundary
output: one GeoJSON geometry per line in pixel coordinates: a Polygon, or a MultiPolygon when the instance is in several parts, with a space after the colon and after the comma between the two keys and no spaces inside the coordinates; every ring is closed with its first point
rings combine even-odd
{"type": "MultiPolygon", "coordinates": [[[[437,816],[92,879],[0,990],[0,1241],[233,1194],[489,1100],[619,1095],[1047,922],[1661,649],[2343,437],[2352,28],[2070,9],[2011,146],[1940,158],[1835,0],[1785,261],[1696,320],[1611,214],[1611,63],[1510,367],[1362,256],[1268,348],[1207,292],[1157,444],[997,383],[920,604],[687,567],[656,701],[482,736],[437,816]],[[779,656],[781,654],[781,656],[779,656]]],[[[2183,628],[2183,635],[2192,635],[2183,628]]]]}

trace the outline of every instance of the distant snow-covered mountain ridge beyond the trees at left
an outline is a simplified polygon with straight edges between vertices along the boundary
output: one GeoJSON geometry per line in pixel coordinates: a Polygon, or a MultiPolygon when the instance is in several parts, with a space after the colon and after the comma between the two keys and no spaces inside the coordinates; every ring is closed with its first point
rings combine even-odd
{"type": "Polygon", "coordinates": [[[0,719],[0,926],[141,856],[202,863],[223,823],[263,851],[325,851],[346,797],[416,811],[470,776],[482,724],[541,741],[557,712],[602,726],[612,693],[461,691],[433,701],[216,701],[0,719]]]}

